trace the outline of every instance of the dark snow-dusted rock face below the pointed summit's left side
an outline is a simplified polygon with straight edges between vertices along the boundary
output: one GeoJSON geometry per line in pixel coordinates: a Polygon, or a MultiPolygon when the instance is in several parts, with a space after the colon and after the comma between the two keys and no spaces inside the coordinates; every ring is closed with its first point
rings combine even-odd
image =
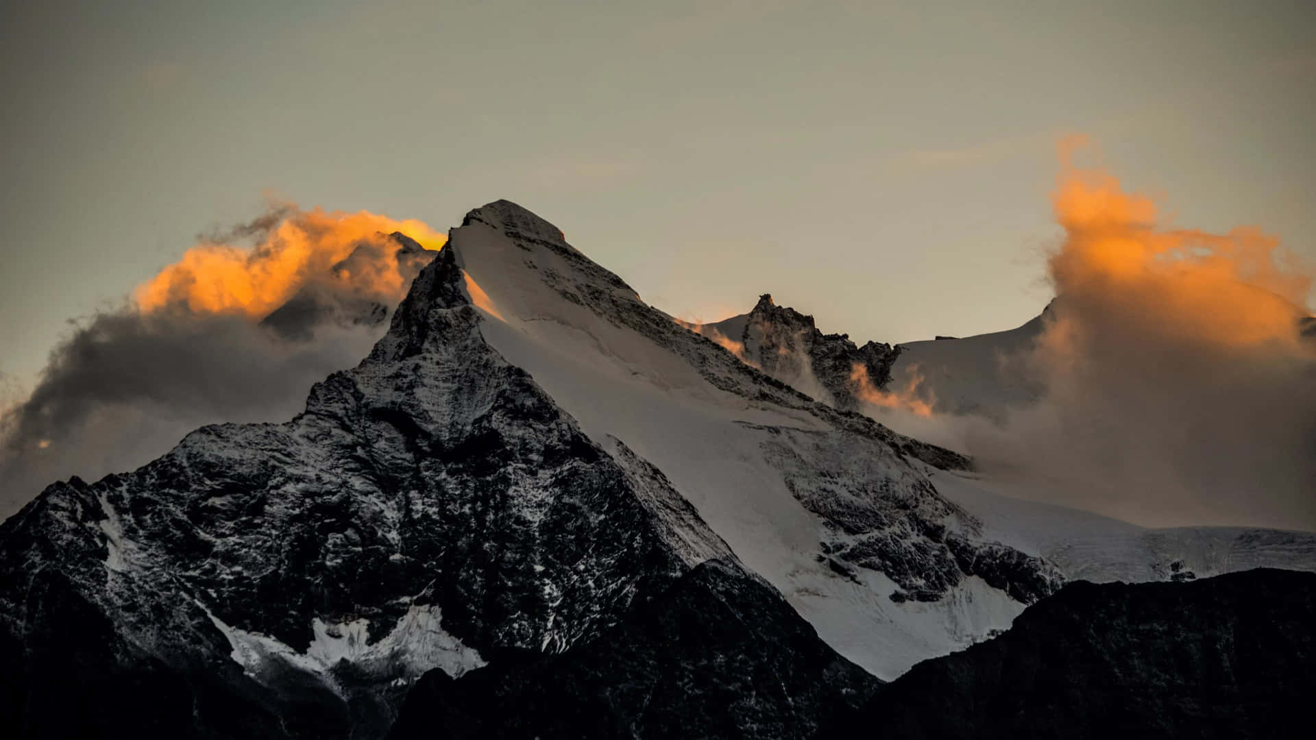
{"type": "Polygon", "coordinates": [[[425,670],[566,650],[733,557],[488,348],[459,286],[450,253],[424,270],[293,421],[203,428],[5,521],[0,726],[379,736],[425,670]],[[129,711],[134,686],[170,710],[129,711]]]}

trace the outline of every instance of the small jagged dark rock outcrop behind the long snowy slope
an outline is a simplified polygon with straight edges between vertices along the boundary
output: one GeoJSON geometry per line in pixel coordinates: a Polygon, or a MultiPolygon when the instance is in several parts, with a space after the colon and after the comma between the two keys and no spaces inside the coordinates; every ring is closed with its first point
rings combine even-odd
{"type": "Polygon", "coordinates": [[[732,338],[744,342],[746,362],[846,411],[858,407],[855,369],[862,367],[863,378],[882,387],[891,381],[891,365],[900,356],[899,346],[857,346],[848,334],[824,334],[812,316],[776,305],[767,294],[750,311],[742,334],[732,338]]]}

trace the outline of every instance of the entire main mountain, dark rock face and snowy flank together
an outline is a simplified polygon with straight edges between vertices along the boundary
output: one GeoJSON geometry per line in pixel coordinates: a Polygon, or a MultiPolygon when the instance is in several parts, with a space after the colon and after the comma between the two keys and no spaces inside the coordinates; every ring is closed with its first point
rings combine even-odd
{"type": "Polygon", "coordinates": [[[854,411],[895,348],[766,296],[708,334],[524,208],[471,211],[303,413],[0,525],[0,724],[380,737],[407,702],[399,736],[804,737],[1079,574],[1316,568],[1309,535],[1009,499],[854,411]]]}

